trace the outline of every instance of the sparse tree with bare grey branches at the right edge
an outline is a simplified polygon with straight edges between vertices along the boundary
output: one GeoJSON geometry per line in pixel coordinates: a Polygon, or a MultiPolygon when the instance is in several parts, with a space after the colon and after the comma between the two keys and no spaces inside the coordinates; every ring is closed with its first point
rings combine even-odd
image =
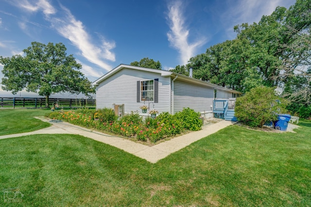
{"type": "Polygon", "coordinates": [[[280,32],[283,96],[308,107],[311,104],[311,0],[297,0],[287,12],[280,32]]]}

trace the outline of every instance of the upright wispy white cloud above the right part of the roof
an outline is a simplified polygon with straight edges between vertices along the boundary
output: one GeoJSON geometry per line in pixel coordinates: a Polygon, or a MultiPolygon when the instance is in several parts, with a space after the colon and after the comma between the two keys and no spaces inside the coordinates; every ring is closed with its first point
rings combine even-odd
{"type": "Polygon", "coordinates": [[[193,43],[189,43],[189,30],[185,25],[182,2],[177,0],[168,6],[168,20],[170,32],[167,33],[171,46],[178,50],[181,64],[187,64],[189,59],[195,55],[197,48],[203,46],[207,39],[201,37],[193,43]]]}

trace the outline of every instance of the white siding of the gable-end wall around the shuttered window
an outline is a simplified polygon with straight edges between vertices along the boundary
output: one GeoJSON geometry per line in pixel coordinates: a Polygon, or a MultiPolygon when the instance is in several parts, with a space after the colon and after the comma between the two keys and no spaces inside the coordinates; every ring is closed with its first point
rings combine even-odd
{"type": "MultiPolygon", "coordinates": [[[[170,110],[170,78],[161,77],[158,73],[135,69],[122,69],[116,74],[108,77],[96,87],[96,108],[112,108],[113,104],[124,104],[124,112],[138,111],[143,101],[137,102],[137,81],[158,81],[158,103],[155,109],[159,112],[170,110]]],[[[145,102],[148,106],[148,102],[145,102]]],[[[152,109],[152,104],[150,108],[152,109]]]]}

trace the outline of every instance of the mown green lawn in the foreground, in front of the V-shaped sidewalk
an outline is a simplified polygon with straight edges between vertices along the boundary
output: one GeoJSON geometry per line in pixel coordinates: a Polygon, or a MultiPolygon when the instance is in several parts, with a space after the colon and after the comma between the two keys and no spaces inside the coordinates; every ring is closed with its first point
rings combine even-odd
{"type": "Polygon", "coordinates": [[[311,122],[300,123],[226,127],[156,164],[77,135],[0,140],[0,189],[24,195],[0,206],[311,206],[311,122]]]}

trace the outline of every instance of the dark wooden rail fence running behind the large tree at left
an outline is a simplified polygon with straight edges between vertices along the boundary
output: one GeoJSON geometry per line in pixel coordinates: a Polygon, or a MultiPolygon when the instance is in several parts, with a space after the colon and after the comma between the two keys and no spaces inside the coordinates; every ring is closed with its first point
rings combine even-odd
{"type": "MultiPolygon", "coordinates": [[[[50,107],[58,105],[59,108],[95,108],[95,99],[84,98],[49,98],[50,107]]],[[[0,97],[0,108],[45,108],[45,98],[18,98],[0,97]]]]}

